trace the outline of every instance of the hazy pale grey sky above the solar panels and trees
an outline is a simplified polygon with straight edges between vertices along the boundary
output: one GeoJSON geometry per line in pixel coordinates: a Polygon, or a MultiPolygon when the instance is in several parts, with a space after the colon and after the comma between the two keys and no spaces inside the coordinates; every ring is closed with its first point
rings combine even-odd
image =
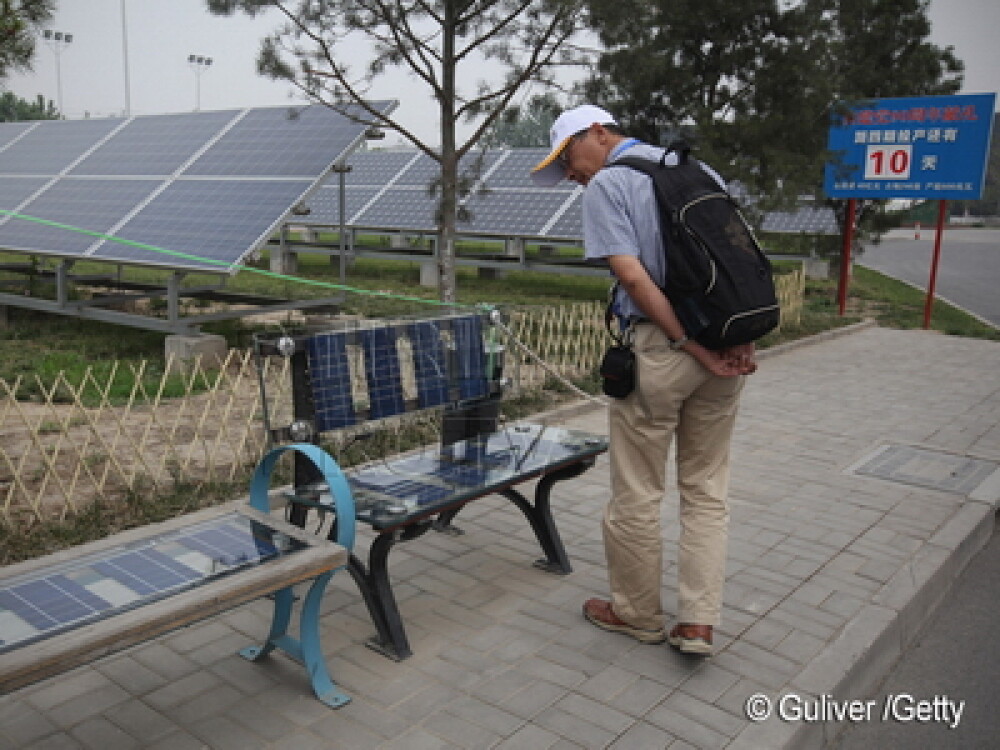
{"type": "MultiPolygon", "coordinates": [[[[204,0],[59,0],[51,25],[73,41],[59,53],[41,43],[34,71],[11,76],[7,87],[19,96],[56,101],[69,118],[121,115],[126,109],[123,38],[128,46],[129,111],[160,114],[190,111],[200,81],[201,109],[232,109],[301,101],[291,87],[259,76],[260,39],[280,23],[274,11],[250,19],[213,16],[204,0]],[[126,18],[123,33],[122,11],[126,18]],[[212,58],[198,76],[191,54],[212,58]]],[[[933,0],[931,39],[952,45],[966,64],[964,93],[1000,91],[1000,2],[933,0]]],[[[354,57],[363,61],[363,48],[354,57]]],[[[891,75],[886,71],[886,75],[891,75]]],[[[394,74],[376,84],[374,98],[401,100],[401,123],[432,143],[436,117],[422,84],[394,74]]],[[[394,139],[390,138],[390,143],[394,139]]]]}

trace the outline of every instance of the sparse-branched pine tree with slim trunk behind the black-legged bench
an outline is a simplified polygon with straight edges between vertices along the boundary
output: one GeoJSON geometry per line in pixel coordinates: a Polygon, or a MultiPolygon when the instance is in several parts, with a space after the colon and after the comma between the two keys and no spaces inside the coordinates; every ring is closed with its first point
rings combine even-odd
{"type": "Polygon", "coordinates": [[[360,105],[373,124],[396,130],[439,162],[438,279],[441,299],[455,299],[455,234],[463,185],[459,159],[529,81],[551,83],[556,65],[574,57],[566,44],[583,0],[206,0],[213,13],[251,15],[277,9],[285,24],[263,40],[258,70],[286,79],[310,100],[360,105]],[[366,39],[371,59],[355,73],[344,43],[366,39]],[[485,78],[496,64],[499,81],[485,78]],[[437,107],[439,144],[429,144],[366,102],[379,75],[411,74],[437,107]],[[478,81],[468,84],[468,81],[478,81]],[[474,123],[459,144],[457,126],[474,123]]]}

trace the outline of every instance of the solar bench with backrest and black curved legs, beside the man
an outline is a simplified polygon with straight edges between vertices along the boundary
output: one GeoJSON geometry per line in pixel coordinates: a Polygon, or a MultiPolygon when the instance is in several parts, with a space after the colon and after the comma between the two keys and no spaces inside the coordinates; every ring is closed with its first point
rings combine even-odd
{"type": "MultiPolygon", "coordinates": [[[[289,360],[291,413],[286,403],[280,426],[275,426],[280,406],[269,403],[267,378],[261,377],[265,426],[276,442],[318,443],[334,431],[363,436],[384,420],[441,411],[440,444],[345,471],[356,520],[375,533],[367,564],[352,553],[348,565],[376,629],[367,645],[396,660],[412,651],[389,580],[393,545],[431,529],[461,533],[452,525],[461,508],[500,494],[531,525],[544,553],[536,565],[569,573],[550,508],[552,487],[582,474],[607,450],[602,436],[538,424],[500,425],[503,349],[496,341],[494,316],[475,312],[355,321],[333,330],[255,340],[262,373],[274,357],[289,360]],[[539,481],[529,501],[515,486],[533,479],[539,481]]],[[[304,525],[310,513],[323,517],[335,496],[308,465],[296,464],[285,499],[289,518],[304,525]]],[[[334,519],[333,529],[340,525],[334,519]]]]}

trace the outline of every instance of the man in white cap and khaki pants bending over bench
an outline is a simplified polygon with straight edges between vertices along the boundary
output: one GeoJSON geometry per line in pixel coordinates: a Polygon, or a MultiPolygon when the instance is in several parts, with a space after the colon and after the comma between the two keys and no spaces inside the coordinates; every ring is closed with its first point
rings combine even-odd
{"type": "Polygon", "coordinates": [[[743,376],[756,370],[754,347],[713,351],[688,338],[660,289],[670,269],[652,181],[633,169],[605,169],[625,154],[659,160],[663,149],[627,138],[592,105],[563,112],[550,139],[532,179],[546,187],[564,178],[586,186],[586,257],[607,264],[617,280],[614,312],[631,328],[636,355],[635,390],[609,411],[612,496],[603,531],[611,599],[589,599],[583,614],[642,643],[669,641],[684,653],[710,654],[725,578],[729,444],[743,376]],[[677,624],[668,633],[660,504],[675,438],[681,531],[677,624]]]}

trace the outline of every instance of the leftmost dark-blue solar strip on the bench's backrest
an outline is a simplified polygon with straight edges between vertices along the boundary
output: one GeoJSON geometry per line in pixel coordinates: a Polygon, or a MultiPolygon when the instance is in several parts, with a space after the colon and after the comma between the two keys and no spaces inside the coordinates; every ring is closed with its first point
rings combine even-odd
{"type": "Polygon", "coordinates": [[[351,391],[347,334],[312,336],[306,344],[316,429],[335,430],[357,422],[351,391]]]}

